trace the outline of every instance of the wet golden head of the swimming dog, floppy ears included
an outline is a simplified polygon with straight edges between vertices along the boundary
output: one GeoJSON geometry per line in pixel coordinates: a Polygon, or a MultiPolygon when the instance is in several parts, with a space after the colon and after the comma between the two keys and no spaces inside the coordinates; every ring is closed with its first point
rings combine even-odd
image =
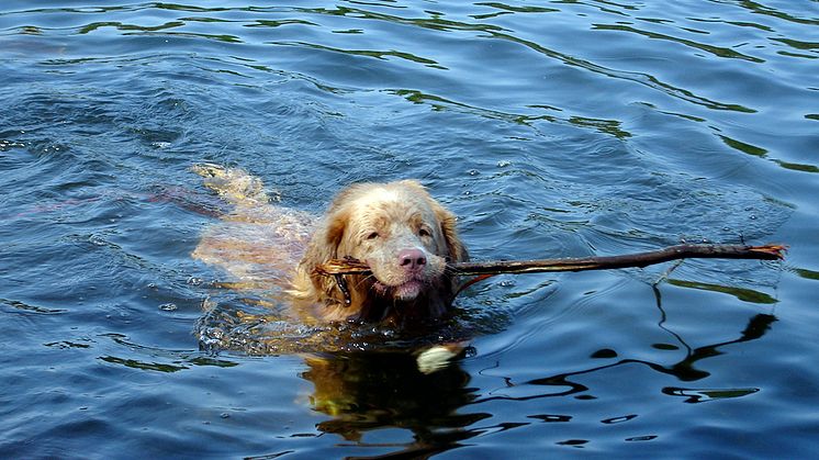
{"type": "MultiPolygon", "coordinates": [[[[347,277],[351,305],[339,313],[380,319],[390,314],[385,307],[415,316],[442,314],[455,289],[446,265],[465,260],[467,253],[457,237],[455,216],[417,182],[401,181],[341,192],[314,235],[300,274],[344,257],[367,262],[372,274],[347,277]]],[[[311,281],[316,301],[344,302],[333,278],[312,274],[311,281]]],[[[299,280],[300,289],[298,284],[299,280]]]]}

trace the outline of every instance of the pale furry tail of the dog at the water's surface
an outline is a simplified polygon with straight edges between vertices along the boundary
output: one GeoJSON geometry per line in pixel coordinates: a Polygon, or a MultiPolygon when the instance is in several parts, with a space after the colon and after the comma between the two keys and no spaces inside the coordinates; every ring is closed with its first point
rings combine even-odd
{"type": "Polygon", "coordinates": [[[220,165],[203,162],[194,165],[191,170],[204,178],[204,186],[216,192],[223,200],[236,206],[254,206],[273,200],[265,191],[261,179],[250,176],[240,168],[225,168],[220,165]]]}

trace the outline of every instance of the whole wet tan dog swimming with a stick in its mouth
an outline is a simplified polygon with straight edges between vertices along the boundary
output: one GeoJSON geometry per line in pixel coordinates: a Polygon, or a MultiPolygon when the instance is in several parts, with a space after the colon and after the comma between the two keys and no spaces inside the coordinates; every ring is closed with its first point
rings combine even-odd
{"type": "Polygon", "coordinates": [[[289,288],[299,317],[312,313],[307,316],[319,322],[404,327],[448,311],[458,281],[447,262],[467,260],[468,255],[452,213],[418,182],[352,186],[336,197],[315,225],[305,213],[270,204],[260,181],[242,170],[204,165],[194,171],[234,211],[223,217],[222,227],[203,236],[193,256],[256,289],[265,283],[289,288]],[[306,248],[305,235],[311,235],[306,248]],[[292,261],[299,257],[296,267],[292,261]],[[313,271],[344,257],[366,261],[372,269],[371,276],[345,277],[348,294],[335,278],[313,271]]]}

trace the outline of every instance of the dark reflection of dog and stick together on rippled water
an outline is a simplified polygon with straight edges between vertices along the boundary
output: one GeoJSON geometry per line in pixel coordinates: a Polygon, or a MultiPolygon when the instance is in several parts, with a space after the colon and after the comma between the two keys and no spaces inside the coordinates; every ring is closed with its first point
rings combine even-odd
{"type": "MultiPolygon", "coordinates": [[[[658,294],[659,299],[659,294],[658,294]]],[[[660,308],[662,311],[662,308],[660,308]]],[[[671,334],[683,347],[685,357],[673,364],[661,364],[639,359],[622,359],[617,362],[595,366],[580,371],[559,373],[513,384],[535,385],[553,389],[546,393],[536,391],[527,396],[481,396],[476,388],[470,386],[471,375],[461,364],[452,363],[433,373],[418,370],[416,355],[405,351],[361,351],[352,354],[315,355],[305,358],[307,370],[301,373],[308,380],[313,391],[308,397],[310,406],[329,416],[316,425],[323,433],[336,434],[345,440],[355,442],[363,449],[389,448],[386,457],[427,458],[449,449],[464,447],[469,439],[487,433],[501,433],[523,428],[536,422],[572,424],[573,414],[532,414],[529,422],[502,422],[493,424],[495,414],[483,412],[490,403],[527,402],[541,399],[572,396],[579,401],[595,400],[604,388],[579,382],[587,374],[604,372],[609,369],[641,364],[647,368],[674,377],[680,382],[695,382],[707,379],[709,372],[696,369],[698,361],[722,355],[723,349],[747,341],[762,338],[776,317],[768,314],[753,315],[744,329],[734,339],[689,347],[685,339],[663,326],[660,328],[671,334]],[[366,438],[368,433],[400,428],[412,433],[412,439],[371,442],[366,438]]],[[[610,350],[609,350],[610,351],[610,350]]],[[[615,358],[609,354],[599,354],[596,358],[615,358]]],[[[683,397],[686,403],[703,403],[726,399],[752,395],[759,388],[692,388],[665,386],[662,394],[683,397]]],[[[638,413],[601,419],[604,425],[628,423],[639,417],[638,413]]],[[[628,409],[628,408],[625,408],[628,409]]],[[[625,441],[649,441],[657,435],[629,437],[625,441]]],[[[401,437],[404,439],[405,437],[401,437]]],[[[582,446],[594,444],[594,439],[569,439],[557,445],[582,446]]],[[[381,458],[364,456],[356,458],[381,458]]]]}

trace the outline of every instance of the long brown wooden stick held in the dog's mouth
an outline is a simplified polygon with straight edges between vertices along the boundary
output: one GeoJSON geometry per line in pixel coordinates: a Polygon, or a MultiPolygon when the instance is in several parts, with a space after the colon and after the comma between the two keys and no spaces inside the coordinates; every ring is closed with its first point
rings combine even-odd
{"type": "MultiPolygon", "coordinates": [[[[782,260],[787,249],[783,245],[677,245],[647,253],[622,256],[576,257],[540,260],[496,260],[450,263],[448,269],[457,274],[492,276],[500,273],[542,273],[551,271],[608,270],[646,267],[677,259],[760,259],[782,260]]],[[[326,276],[369,274],[370,267],[356,259],[334,259],[316,267],[326,276]]]]}

